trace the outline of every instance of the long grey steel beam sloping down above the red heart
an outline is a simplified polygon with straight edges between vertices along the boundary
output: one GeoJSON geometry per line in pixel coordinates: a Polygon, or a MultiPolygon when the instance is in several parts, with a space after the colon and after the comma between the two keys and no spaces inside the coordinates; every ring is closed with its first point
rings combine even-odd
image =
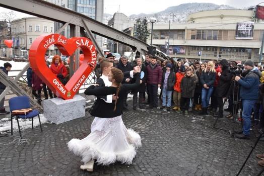
{"type": "Polygon", "coordinates": [[[111,28],[103,23],[100,23],[83,14],[79,14],[70,9],[65,9],[60,6],[48,3],[41,0],[16,0],[16,1],[0,1],[0,6],[12,9],[18,12],[34,15],[48,20],[69,23],[72,25],[82,26],[82,20],[86,23],[89,29],[97,35],[128,45],[132,48],[137,48],[140,52],[147,52],[149,45],[139,39],[128,34],[111,28]]]}

